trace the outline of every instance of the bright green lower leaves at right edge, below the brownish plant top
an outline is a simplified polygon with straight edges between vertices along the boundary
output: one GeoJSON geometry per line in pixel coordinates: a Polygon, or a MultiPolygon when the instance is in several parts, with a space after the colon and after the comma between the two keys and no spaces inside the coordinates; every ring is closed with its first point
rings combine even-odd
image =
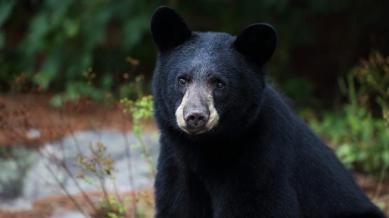
{"type": "Polygon", "coordinates": [[[325,113],[320,121],[310,121],[310,125],[329,140],[337,156],[350,168],[377,175],[389,164],[385,122],[373,118],[366,107],[345,105],[341,111],[325,113]]]}

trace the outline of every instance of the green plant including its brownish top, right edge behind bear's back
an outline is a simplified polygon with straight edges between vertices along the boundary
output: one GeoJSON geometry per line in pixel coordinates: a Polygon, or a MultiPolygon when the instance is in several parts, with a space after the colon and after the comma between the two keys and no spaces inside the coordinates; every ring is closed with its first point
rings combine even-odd
{"type": "Polygon", "coordinates": [[[336,154],[347,166],[381,174],[381,178],[389,169],[388,63],[389,58],[373,53],[369,60],[358,64],[346,81],[339,80],[349,103],[341,111],[325,113],[322,121],[314,119],[310,122],[319,135],[330,140],[336,154]],[[358,86],[355,85],[356,79],[360,82],[358,86]],[[383,117],[373,116],[369,96],[375,96],[383,117]]]}

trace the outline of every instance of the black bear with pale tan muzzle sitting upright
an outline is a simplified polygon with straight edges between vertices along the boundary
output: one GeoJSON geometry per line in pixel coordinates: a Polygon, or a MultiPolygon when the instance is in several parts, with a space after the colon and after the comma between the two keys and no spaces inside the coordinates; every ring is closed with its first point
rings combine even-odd
{"type": "Polygon", "coordinates": [[[160,156],[156,218],[384,218],[349,171],[265,81],[270,25],[192,32],[151,20],[160,156]]]}

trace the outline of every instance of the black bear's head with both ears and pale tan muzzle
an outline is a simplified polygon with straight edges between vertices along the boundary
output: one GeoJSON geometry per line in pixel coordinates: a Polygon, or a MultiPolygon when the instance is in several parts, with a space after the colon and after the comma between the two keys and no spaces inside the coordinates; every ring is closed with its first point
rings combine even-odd
{"type": "Polygon", "coordinates": [[[238,36],[192,32],[175,10],[161,6],[151,32],[159,49],[153,78],[159,127],[189,136],[244,131],[261,106],[273,27],[252,24],[238,36]]]}

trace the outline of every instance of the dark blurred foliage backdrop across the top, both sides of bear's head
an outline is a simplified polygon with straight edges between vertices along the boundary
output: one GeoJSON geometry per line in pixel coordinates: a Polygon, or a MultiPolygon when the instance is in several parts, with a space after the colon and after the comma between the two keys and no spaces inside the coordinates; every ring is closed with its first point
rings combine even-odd
{"type": "Polygon", "coordinates": [[[364,51],[388,50],[387,7],[378,1],[3,0],[0,91],[13,90],[10,83],[24,74],[25,87],[71,99],[82,94],[104,100],[108,93],[135,100],[124,75],[134,80],[143,74],[150,93],[156,49],[149,22],[161,4],[176,8],[192,30],[237,34],[250,23],[274,25],[279,40],[268,71],[300,106],[320,107],[327,99],[314,94],[328,93],[364,51]],[[139,72],[128,73],[128,56],[140,60],[139,72]],[[90,68],[95,78],[86,86],[83,72],[90,68]]]}

